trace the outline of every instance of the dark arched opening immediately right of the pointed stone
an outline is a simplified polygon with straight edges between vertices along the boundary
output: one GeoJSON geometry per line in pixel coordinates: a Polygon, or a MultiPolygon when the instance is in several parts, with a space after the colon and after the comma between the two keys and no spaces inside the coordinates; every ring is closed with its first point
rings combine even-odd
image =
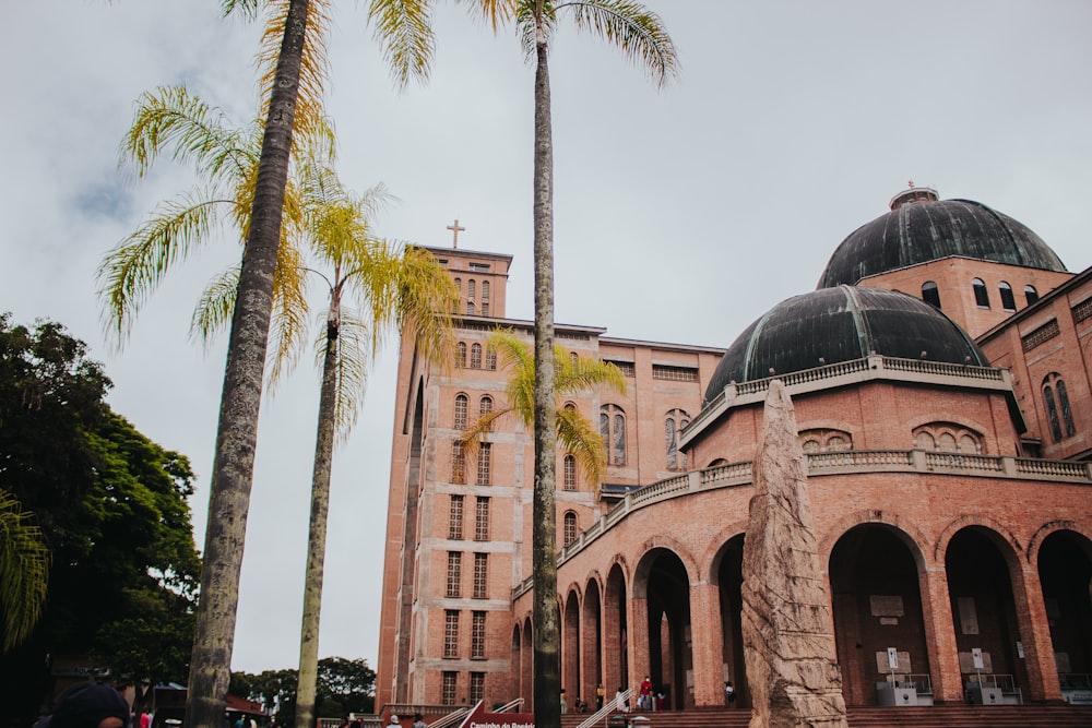
{"type": "Polygon", "coordinates": [[[923,699],[931,693],[918,569],[909,541],[890,526],[866,524],[847,530],[831,550],[834,644],[848,705],[877,705],[893,682],[914,683],[923,699]],[[897,668],[888,657],[892,647],[897,668]]]}

